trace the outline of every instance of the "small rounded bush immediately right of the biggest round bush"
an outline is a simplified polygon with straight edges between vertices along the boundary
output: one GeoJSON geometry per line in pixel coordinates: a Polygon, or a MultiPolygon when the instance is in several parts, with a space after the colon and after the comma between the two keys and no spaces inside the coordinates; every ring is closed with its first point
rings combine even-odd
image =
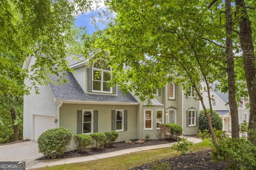
{"type": "Polygon", "coordinates": [[[76,144],[76,150],[78,152],[83,152],[86,149],[86,147],[92,145],[92,137],[86,134],[75,135],[74,141],[76,144]]]}

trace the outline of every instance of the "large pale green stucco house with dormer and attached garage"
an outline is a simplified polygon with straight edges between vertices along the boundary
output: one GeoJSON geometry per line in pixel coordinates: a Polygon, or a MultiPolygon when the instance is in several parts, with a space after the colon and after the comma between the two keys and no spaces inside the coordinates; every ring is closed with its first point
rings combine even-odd
{"type": "MultiPolygon", "coordinates": [[[[106,53],[108,54],[108,53],[106,53]]],[[[88,65],[88,60],[69,59],[74,73],[67,73],[68,84],[40,86],[40,94],[31,90],[24,96],[23,138],[36,141],[47,129],[65,127],[73,135],[117,131],[117,141],[158,139],[156,129],[163,123],[177,123],[184,135],[198,133],[199,102],[193,96],[186,98],[182,86],[166,84],[157,90],[152,106],[140,102],[131,93],[123,94],[118,86],[108,87],[112,68],[105,59],[97,59],[88,65]],[[55,122],[54,122],[55,121],[55,122]],[[56,123],[56,124],[55,124],[56,123]]],[[[24,68],[30,69],[35,58],[30,57],[24,68]]],[[[56,81],[56,76],[51,76],[56,81]]],[[[24,81],[30,86],[30,81],[24,81]]],[[[74,148],[74,143],[70,146],[74,148]]]]}

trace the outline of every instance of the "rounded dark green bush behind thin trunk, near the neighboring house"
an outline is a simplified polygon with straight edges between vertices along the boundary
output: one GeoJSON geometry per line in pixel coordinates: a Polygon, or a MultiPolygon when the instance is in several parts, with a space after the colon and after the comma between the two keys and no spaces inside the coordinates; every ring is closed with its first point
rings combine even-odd
{"type": "MultiPolygon", "coordinates": [[[[206,109],[208,115],[211,115],[210,109],[206,109]]],[[[222,130],[223,124],[222,119],[218,115],[216,111],[213,111],[213,117],[212,117],[212,127],[216,130],[222,130]]],[[[204,110],[200,111],[199,115],[199,129],[203,132],[205,129],[208,129],[210,131],[209,125],[208,125],[208,119],[206,115],[204,114],[204,110]]]]}

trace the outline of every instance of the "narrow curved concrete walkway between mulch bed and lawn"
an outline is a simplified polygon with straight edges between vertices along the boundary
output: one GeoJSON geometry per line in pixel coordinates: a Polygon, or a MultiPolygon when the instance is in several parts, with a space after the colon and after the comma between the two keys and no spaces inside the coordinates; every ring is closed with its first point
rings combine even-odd
{"type": "MultiPolygon", "coordinates": [[[[180,136],[187,138],[188,141],[192,141],[193,143],[200,143],[202,140],[188,137],[188,136],[180,136]]],[[[109,158],[113,156],[119,156],[122,154],[128,154],[132,152],[140,152],[143,150],[151,150],[151,149],[161,149],[161,148],[169,148],[172,147],[174,143],[167,143],[162,145],[153,145],[153,146],[147,146],[147,147],[137,147],[137,148],[131,148],[131,149],[124,149],[124,150],[118,150],[114,152],[108,152],[103,154],[96,154],[96,155],[90,155],[90,156],[82,156],[82,157],[76,157],[76,158],[64,158],[64,159],[53,159],[53,160],[34,160],[33,162],[27,163],[26,162],[26,170],[34,169],[34,168],[41,168],[45,166],[54,166],[54,165],[61,165],[61,164],[70,164],[70,163],[76,163],[76,162],[86,162],[90,160],[97,160],[97,159],[103,159],[103,158],[109,158]]]]}

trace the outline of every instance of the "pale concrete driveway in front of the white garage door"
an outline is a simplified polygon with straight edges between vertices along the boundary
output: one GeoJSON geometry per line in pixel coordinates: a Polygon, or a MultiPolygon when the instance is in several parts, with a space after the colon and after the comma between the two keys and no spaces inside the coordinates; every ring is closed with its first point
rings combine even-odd
{"type": "Polygon", "coordinates": [[[30,162],[42,157],[43,154],[38,152],[38,145],[34,141],[14,143],[10,145],[0,145],[0,162],[30,162]]]}

